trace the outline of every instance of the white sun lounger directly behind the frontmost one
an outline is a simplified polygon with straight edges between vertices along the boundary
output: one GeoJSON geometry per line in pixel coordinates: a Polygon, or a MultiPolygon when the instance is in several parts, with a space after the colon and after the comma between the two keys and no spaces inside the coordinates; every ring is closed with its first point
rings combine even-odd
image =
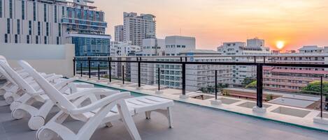
{"type": "MultiPolygon", "coordinates": [[[[29,118],[28,126],[31,130],[38,130],[45,124],[45,118],[48,116],[54,104],[49,100],[48,96],[44,94],[44,91],[41,90],[37,83],[29,84],[6,63],[0,61],[0,66],[4,70],[6,70],[9,76],[15,82],[15,84],[17,84],[17,86],[19,88],[22,88],[22,91],[24,91],[24,94],[20,98],[17,98],[17,100],[10,104],[10,109],[12,109],[13,118],[21,119],[24,118],[26,114],[30,114],[31,118],[29,118]],[[34,102],[43,102],[44,104],[42,104],[40,108],[37,108],[33,106],[34,102]]],[[[72,83],[75,80],[76,79],[62,80],[59,83],[54,84],[54,86],[62,93],[68,95],[69,93],[71,93],[71,91],[73,91],[70,90],[68,92],[65,92],[70,87],[74,87],[74,89],[76,89],[75,86],[73,86],[74,84],[72,83]]],[[[51,80],[47,79],[47,81],[49,82],[51,80]]],[[[92,88],[92,90],[95,89],[92,88]]],[[[105,90],[98,89],[98,91],[105,90]]]]}

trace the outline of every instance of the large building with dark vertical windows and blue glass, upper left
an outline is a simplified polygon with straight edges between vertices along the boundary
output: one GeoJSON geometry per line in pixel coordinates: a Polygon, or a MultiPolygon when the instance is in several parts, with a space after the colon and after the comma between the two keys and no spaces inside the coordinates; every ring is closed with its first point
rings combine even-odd
{"type": "Polygon", "coordinates": [[[76,56],[108,56],[104,12],[89,0],[1,0],[0,42],[72,43],[76,56]]]}

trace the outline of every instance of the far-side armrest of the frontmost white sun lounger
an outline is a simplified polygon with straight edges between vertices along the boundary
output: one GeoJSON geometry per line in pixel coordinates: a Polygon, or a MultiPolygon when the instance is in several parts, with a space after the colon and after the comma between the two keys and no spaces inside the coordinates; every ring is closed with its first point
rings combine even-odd
{"type": "Polygon", "coordinates": [[[92,88],[84,91],[80,91],[77,93],[73,93],[71,95],[67,95],[66,98],[69,100],[76,100],[77,98],[83,97],[85,95],[113,95],[115,93],[119,93],[119,91],[106,91],[103,88],[92,88]]]}

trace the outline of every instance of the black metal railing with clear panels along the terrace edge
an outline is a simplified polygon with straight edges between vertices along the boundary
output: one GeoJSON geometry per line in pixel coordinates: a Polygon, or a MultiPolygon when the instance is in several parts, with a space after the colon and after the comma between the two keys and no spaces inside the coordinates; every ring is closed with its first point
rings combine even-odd
{"type": "MultiPolygon", "coordinates": [[[[73,73],[81,77],[83,75],[87,75],[89,78],[96,76],[99,80],[101,77],[106,77],[110,82],[113,79],[119,79],[122,81],[122,84],[126,84],[125,81],[132,81],[138,87],[141,87],[143,84],[156,85],[158,91],[162,90],[163,87],[176,88],[181,90],[182,95],[187,95],[187,92],[190,91],[188,88],[191,88],[193,89],[191,91],[203,91],[203,93],[215,95],[215,100],[218,99],[219,94],[234,98],[256,100],[256,105],[259,108],[264,107],[263,102],[269,102],[277,98],[281,98],[282,102],[284,100],[313,102],[304,108],[310,109],[309,107],[311,106],[311,109],[318,109],[322,117],[322,112],[328,110],[328,102],[326,100],[326,97],[328,97],[328,83],[326,83],[328,81],[328,65],[276,63],[273,59],[276,57],[278,56],[82,56],[73,59],[73,73]],[[242,57],[248,58],[248,61],[235,61],[242,57]],[[218,61],[219,58],[220,61],[218,61]],[[230,59],[222,61],[222,58],[230,59]],[[197,66],[193,67],[194,65],[197,66]],[[265,71],[266,68],[291,70],[297,68],[313,70],[313,73],[304,74],[308,77],[291,76],[288,73],[271,76],[270,71],[265,71]],[[245,77],[245,75],[249,77],[245,77]],[[278,79],[275,77],[278,77],[278,79]],[[289,79],[284,79],[284,77],[294,78],[288,81],[289,79]],[[241,80],[256,82],[253,82],[255,85],[251,85],[252,83],[245,85],[245,83],[240,82],[241,80]],[[301,81],[301,83],[297,81],[301,81]],[[312,86],[304,87],[304,85],[311,84],[311,81],[318,82],[312,86]],[[236,91],[227,93],[228,91],[224,91],[225,88],[241,88],[245,90],[241,91],[241,93],[236,91]],[[308,89],[305,90],[304,88],[308,89]],[[252,89],[256,90],[256,96],[247,93],[247,90],[251,91],[252,89]],[[273,92],[278,93],[271,94],[273,92]],[[296,96],[302,98],[294,98],[296,96]],[[312,100],[312,98],[315,99],[312,100]]],[[[276,102],[270,103],[275,104],[276,102]]]]}

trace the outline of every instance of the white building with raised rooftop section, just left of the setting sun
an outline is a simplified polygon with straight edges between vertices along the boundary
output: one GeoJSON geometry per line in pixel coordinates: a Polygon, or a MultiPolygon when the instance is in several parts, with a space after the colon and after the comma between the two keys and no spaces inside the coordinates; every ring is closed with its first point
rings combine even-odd
{"type": "MultiPolygon", "coordinates": [[[[264,55],[270,54],[269,47],[264,47],[264,40],[253,38],[245,42],[224,42],[222,46],[218,47],[218,52],[222,55],[232,56],[233,61],[236,62],[254,62],[250,55],[264,55]],[[242,57],[233,57],[242,56],[242,57]]],[[[256,61],[263,62],[263,58],[256,58],[256,61]]],[[[256,69],[254,66],[238,65],[233,67],[233,84],[241,84],[247,77],[256,77],[256,69]]]]}

